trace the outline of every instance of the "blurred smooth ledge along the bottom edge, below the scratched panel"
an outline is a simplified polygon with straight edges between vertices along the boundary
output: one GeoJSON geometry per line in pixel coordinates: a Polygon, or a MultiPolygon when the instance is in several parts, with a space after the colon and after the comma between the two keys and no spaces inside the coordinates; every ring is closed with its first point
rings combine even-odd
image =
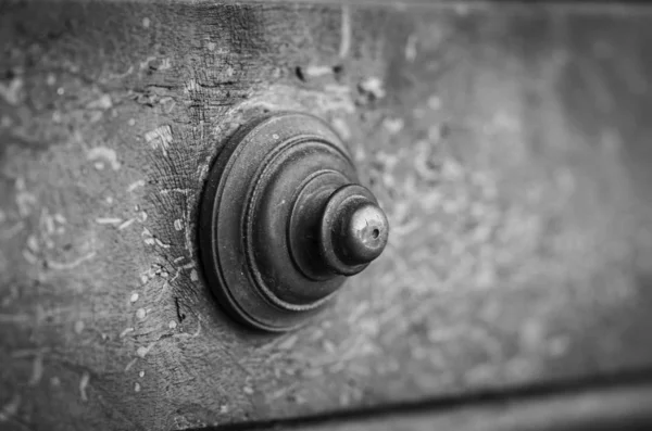
{"type": "Polygon", "coordinates": [[[248,426],[277,431],[640,431],[652,426],[652,389],[650,375],[638,373],[616,381],[527,388],[248,426]]]}

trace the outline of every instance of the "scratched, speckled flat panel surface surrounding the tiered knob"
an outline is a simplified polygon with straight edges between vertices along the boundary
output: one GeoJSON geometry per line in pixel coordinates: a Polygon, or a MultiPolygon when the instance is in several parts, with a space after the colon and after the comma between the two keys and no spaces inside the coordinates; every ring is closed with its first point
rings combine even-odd
{"type": "Polygon", "coordinates": [[[177,429],[652,362],[649,13],[2,8],[0,427],[177,429]],[[392,231],[269,337],[216,307],[195,219],[221,142],[288,109],[340,132],[392,231]]]}

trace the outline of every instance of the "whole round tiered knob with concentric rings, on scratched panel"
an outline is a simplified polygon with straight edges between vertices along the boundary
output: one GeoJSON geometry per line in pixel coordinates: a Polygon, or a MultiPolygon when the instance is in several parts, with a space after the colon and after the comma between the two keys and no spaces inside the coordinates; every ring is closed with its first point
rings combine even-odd
{"type": "Polygon", "coordinates": [[[389,225],[349,151],[323,121],[281,113],[237,131],[202,197],[206,281],[235,318],[300,326],[387,244],[389,225]]]}

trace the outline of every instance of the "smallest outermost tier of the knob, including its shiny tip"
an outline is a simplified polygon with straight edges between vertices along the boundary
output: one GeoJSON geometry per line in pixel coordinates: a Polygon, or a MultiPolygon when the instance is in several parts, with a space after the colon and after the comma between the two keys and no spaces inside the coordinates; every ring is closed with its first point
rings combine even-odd
{"type": "Polygon", "coordinates": [[[360,272],[383,253],[388,237],[387,216],[366,188],[343,186],[328,198],[319,229],[319,251],[334,272],[360,272]]]}

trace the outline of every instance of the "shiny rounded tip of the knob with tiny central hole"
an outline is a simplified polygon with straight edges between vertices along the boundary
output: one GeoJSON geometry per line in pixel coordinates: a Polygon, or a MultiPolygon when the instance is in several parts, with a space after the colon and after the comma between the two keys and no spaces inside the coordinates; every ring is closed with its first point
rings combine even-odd
{"type": "Polygon", "coordinates": [[[366,264],[378,257],[389,233],[383,210],[371,202],[361,203],[344,217],[338,238],[341,257],[354,264],[366,264]]]}

